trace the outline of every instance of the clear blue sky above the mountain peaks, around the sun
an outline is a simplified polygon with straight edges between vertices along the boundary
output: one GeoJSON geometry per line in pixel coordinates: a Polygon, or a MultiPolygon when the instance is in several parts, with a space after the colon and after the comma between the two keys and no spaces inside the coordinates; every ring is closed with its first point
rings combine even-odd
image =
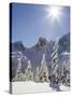
{"type": "Polygon", "coordinates": [[[53,23],[48,17],[49,6],[42,4],[12,4],[12,42],[21,41],[30,47],[37,43],[40,37],[47,40],[56,40],[70,32],[70,8],[60,6],[61,16],[59,22],[53,23]]]}

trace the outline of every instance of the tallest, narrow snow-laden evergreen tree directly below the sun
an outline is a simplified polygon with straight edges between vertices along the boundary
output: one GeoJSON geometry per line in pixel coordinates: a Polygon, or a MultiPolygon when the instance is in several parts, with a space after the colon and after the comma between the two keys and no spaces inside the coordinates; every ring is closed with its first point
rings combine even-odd
{"type": "Polygon", "coordinates": [[[55,42],[52,52],[52,82],[55,82],[59,79],[59,71],[58,71],[58,41],[55,42]]]}

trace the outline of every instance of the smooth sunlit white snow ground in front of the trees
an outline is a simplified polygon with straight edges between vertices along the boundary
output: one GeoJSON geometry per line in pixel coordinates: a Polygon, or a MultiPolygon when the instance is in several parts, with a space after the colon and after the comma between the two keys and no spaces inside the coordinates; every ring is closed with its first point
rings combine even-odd
{"type": "MultiPolygon", "coordinates": [[[[60,91],[69,91],[69,86],[60,85],[60,91]]],[[[35,82],[13,82],[12,94],[26,94],[26,93],[46,93],[56,92],[55,88],[49,86],[49,83],[35,83],[35,82]]]]}

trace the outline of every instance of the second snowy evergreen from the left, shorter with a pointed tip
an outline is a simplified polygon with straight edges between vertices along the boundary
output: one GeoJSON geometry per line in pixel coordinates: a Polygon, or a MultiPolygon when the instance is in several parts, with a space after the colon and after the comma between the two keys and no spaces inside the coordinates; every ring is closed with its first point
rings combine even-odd
{"type": "Polygon", "coordinates": [[[28,66],[25,74],[26,74],[26,81],[33,81],[33,72],[30,60],[28,60],[28,66]]]}

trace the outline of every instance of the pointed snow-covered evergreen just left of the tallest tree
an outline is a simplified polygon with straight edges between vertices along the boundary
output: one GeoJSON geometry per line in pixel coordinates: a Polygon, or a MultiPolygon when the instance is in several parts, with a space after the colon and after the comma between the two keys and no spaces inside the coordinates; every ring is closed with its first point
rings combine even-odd
{"type": "Polygon", "coordinates": [[[43,54],[42,57],[39,78],[40,78],[40,82],[48,81],[48,69],[45,60],[45,54],[43,54]]]}

